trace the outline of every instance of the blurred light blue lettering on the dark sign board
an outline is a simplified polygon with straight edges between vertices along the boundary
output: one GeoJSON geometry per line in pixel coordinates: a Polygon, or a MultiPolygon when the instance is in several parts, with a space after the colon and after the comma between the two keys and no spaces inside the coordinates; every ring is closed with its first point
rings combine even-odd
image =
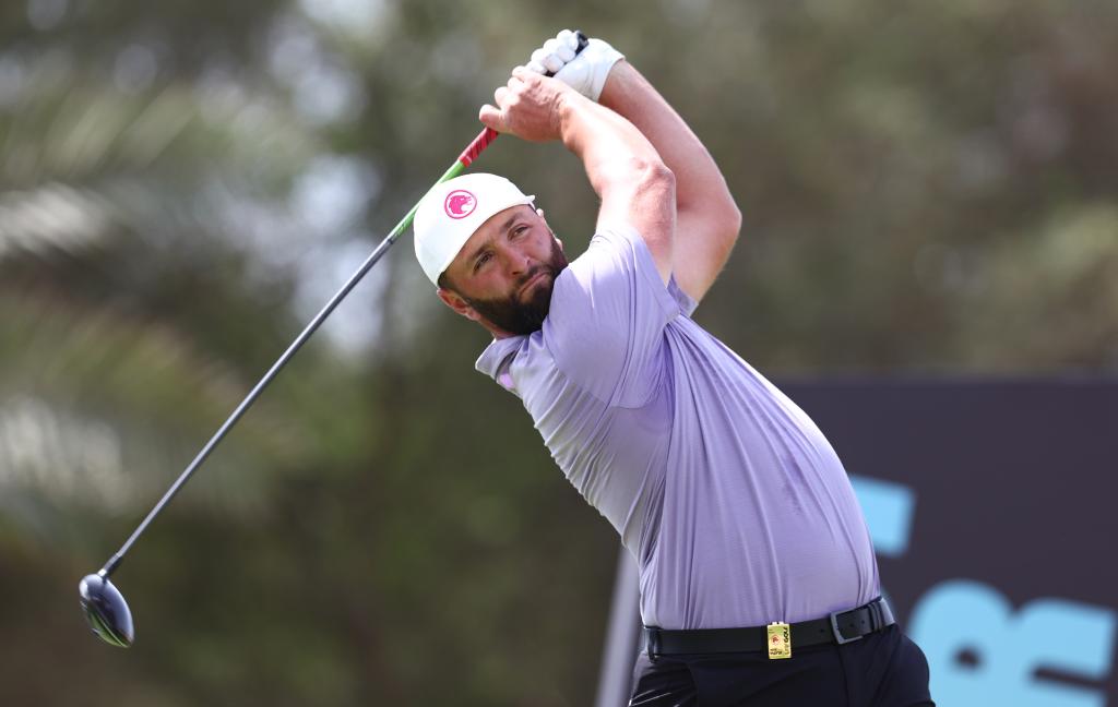
{"type": "MultiPolygon", "coordinates": [[[[879,556],[902,556],[916,493],[900,484],[852,480],[879,556]]],[[[1115,611],[1106,606],[1044,598],[1015,610],[988,584],[951,579],[916,600],[907,632],[928,657],[940,705],[1105,707],[1101,687],[1046,680],[1043,671],[1103,679],[1114,665],[1115,623],[1115,611]]]]}

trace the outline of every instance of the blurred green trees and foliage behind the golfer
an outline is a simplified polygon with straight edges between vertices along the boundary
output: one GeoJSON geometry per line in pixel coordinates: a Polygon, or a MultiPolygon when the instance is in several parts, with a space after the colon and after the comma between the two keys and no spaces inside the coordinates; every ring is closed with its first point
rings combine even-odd
{"type": "MultiPolygon", "coordinates": [[[[136,646],[76,592],[565,27],[723,169],[695,318],[767,375],[1118,369],[1114,2],[9,0],[0,703],[590,704],[616,537],[409,237],[114,575],[136,646]]],[[[587,242],[561,147],[475,169],[587,242]]]]}

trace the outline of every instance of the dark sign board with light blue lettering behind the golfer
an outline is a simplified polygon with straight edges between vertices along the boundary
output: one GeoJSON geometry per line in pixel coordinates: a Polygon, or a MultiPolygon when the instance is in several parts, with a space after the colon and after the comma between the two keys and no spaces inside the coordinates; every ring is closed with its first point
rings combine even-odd
{"type": "Polygon", "coordinates": [[[941,707],[1118,707],[1118,383],[781,388],[834,445],[941,707]]]}

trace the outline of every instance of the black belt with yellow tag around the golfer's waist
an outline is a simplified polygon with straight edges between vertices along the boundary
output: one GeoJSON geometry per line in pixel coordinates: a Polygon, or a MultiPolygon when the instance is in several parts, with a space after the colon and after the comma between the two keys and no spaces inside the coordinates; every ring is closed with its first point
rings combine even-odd
{"type": "MultiPolygon", "coordinates": [[[[892,625],[897,621],[884,599],[836,611],[823,619],[800,621],[789,624],[792,648],[818,646],[819,643],[850,643],[860,638],[892,625]]],[[[693,629],[665,630],[644,627],[644,644],[650,658],[684,653],[740,653],[767,651],[768,627],[748,629],[693,629]]]]}

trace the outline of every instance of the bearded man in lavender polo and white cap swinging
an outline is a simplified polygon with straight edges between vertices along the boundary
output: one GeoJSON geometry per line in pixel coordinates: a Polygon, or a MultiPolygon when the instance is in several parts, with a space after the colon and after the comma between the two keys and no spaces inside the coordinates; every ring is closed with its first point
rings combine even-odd
{"type": "Polygon", "coordinates": [[[575,46],[548,40],[480,117],[581,160],[601,199],[587,251],[568,265],[532,197],[471,174],[424,198],[416,254],[493,334],[477,369],[638,562],[631,705],[931,705],[842,464],[690,318],[740,226],[721,172],[622,55],[575,46]]]}

